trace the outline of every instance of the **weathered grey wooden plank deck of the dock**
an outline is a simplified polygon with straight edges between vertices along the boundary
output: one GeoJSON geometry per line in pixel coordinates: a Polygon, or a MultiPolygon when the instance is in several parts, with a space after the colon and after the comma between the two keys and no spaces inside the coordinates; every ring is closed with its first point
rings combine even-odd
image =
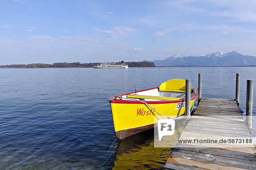
{"type": "MultiPolygon", "coordinates": [[[[250,138],[239,108],[233,99],[201,99],[180,139],[250,138]]],[[[164,170],[256,170],[253,143],[177,143],[164,170]]]]}

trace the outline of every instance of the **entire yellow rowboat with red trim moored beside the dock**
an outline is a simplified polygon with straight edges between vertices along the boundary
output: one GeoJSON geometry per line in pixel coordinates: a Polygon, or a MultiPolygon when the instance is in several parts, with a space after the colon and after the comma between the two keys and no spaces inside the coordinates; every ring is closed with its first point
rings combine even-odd
{"type": "MultiPolygon", "coordinates": [[[[185,113],[185,79],[170,79],[160,87],[110,97],[113,124],[118,139],[125,139],[154,127],[154,119],[185,113]],[[159,114],[160,113],[160,114],[159,114]]],[[[191,85],[191,109],[197,98],[191,85]]]]}

